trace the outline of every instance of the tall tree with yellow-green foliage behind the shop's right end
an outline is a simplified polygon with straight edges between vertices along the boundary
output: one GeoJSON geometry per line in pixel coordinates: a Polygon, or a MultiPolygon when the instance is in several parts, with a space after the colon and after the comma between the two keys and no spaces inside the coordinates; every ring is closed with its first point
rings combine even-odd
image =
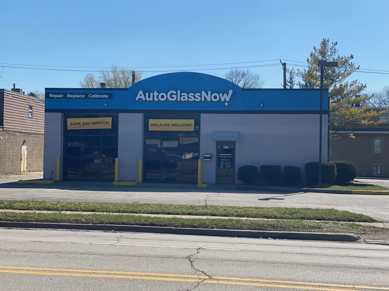
{"type": "Polygon", "coordinates": [[[330,43],[329,39],[323,39],[320,47],[314,47],[307,59],[307,69],[290,71],[302,78],[302,82],[298,82],[299,88],[320,88],[318,61],[338,62],[338,67],[324,67],[323,88],[329,90],[329,129],[332,142],[344,137],[338,135],[338,131],[348,131],[347,136],[354,138],[353,128],[358,125],[377,124],[372,117],[379,114],[374,110],[367,110],[367,106],[363,105],[372,97],[364,94],[366,85],[358,80],[348,81],[352,73],[359,70],[359,66],[352,62],[354,56],[340,56],[336,46],[337,42],[330,43]]]}

